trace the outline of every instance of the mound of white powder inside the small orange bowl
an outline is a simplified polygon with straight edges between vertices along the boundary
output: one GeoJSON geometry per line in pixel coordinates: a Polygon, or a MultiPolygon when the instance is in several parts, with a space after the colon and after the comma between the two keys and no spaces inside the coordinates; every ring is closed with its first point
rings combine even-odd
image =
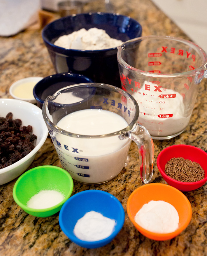
{"type": "Polygon", "coordinates": [[[170,233],[178,228],[179,215],[176,208],[165,201],[150,201],[136,213],[138,225],[155,233],[170,233]]]}

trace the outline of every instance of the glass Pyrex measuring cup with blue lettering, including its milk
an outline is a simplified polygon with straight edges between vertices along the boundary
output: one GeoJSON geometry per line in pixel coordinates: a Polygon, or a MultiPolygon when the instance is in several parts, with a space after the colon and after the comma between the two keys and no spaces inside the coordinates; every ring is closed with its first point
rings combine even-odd
{"type": "Polygon", "coordinates": [[[139,107],[127,92],[99,83],[71,85],[48,96],[42,111],[61,164],[73,179],[98,184],[114,178],[124,167],[131,140],[138,145],[142,181],[152,178],[153,141],[138,125],[139,107]],[[101,113],[105,116],[97,121],[101,113]],[[113,130],[119,120],[108,122],[110,115],[126,122],[124,128],[113,130]],[[94,123],[100,126],[92,131],[94,123]]]}

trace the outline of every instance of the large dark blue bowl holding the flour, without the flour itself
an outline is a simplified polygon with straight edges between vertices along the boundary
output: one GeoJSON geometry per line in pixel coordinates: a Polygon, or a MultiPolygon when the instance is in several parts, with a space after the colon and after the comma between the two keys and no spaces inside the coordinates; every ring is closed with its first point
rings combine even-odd
{"type": "Polygon", "coordinates": [[[122,42],[141,36],[142,27],[129,16],[115,13],[83,13],[63,17],[44,27],[43,41],[57,73],[71,72],[83,74],[96,83],[106,83],[121,87],[117,48],[104,50],[72,50],[54,45],[60,36],[82,28],[96,27],[122,42]]]}

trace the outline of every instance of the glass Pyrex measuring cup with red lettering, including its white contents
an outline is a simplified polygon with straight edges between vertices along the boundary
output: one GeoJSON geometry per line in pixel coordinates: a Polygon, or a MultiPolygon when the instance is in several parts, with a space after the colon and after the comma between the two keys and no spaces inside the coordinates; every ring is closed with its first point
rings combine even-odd
{"type": "Polygon", "coordinates": [[[182,133],[207,77],[204,50],[181,38],[146,36],[120,46],[117,60],[122,89],[138,102],[138,123],[153,139],[182,133]]]}

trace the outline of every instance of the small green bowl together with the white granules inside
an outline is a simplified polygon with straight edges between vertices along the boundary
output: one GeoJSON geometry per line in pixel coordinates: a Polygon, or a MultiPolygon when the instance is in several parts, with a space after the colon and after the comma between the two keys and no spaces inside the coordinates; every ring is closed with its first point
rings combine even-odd
{"type": "Polygon", "coordinates": [[[27,213],[48,217],[60,211],[71,196],[73,179],[57,166],[38,166],[25,172],[13,188],[15,202],[27,213]]]}

